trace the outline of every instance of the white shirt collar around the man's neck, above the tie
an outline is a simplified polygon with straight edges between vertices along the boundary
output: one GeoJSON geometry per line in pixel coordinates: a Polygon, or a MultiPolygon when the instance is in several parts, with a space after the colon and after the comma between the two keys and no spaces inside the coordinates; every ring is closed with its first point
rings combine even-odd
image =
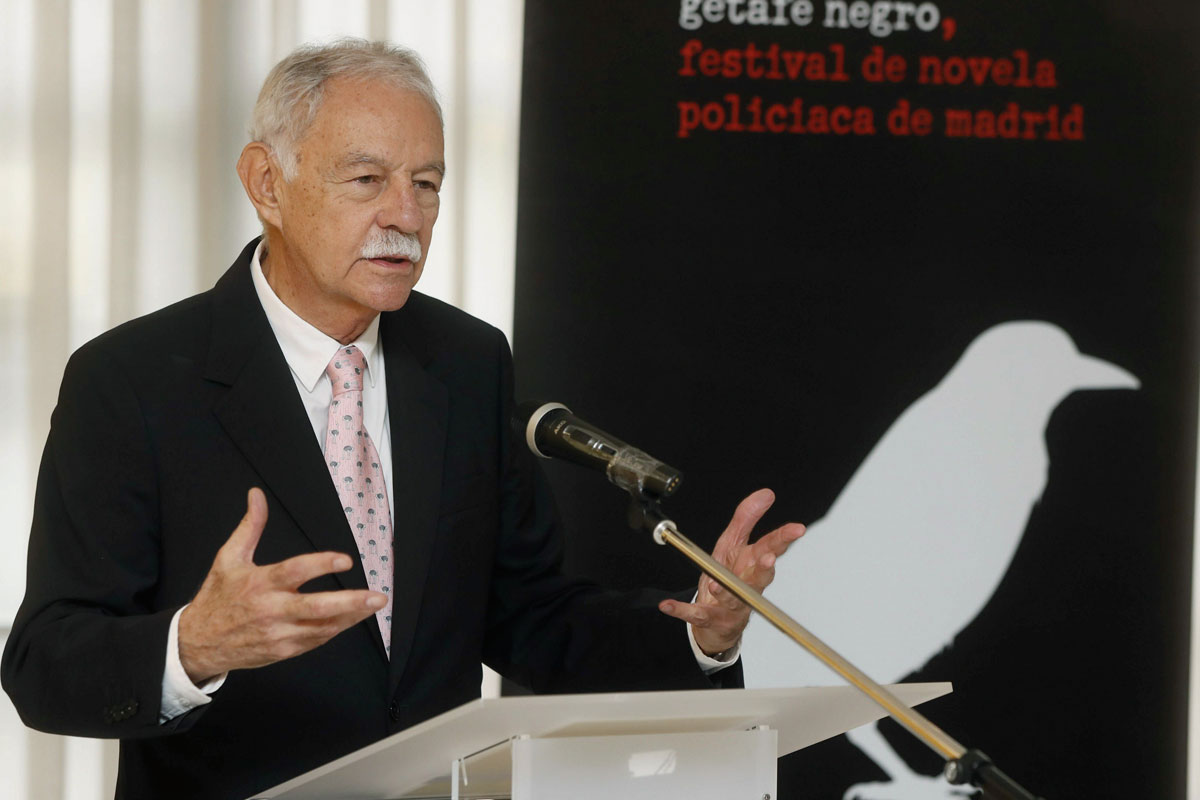
{"type": "MultiPolygon", "coordinates": [[[[275,289],[266,282],[266,276],[263,275],[260,259],[265,252],[266,240],[263,239],[258,242],[254,255],[250,260],[254,291],[258,293],[258,302],[266,312],[266,321],[270,323],[275,338],[280,342],[283,359],[300,384],[311,392],[317,387],[320,377],[325,374],[325,367],[329,366],[330,359],[342,347],[342,343],[317,330],[283,305],[283,301],[275,294],[275,289]]],[[[379,347],[378,314],[362,331],[362,335],[350,344],[362,351],[367,362],[367,380],[374,386],[376,375],[379,374],[378,359],[383,357],[383,349],[379,347]]]]}

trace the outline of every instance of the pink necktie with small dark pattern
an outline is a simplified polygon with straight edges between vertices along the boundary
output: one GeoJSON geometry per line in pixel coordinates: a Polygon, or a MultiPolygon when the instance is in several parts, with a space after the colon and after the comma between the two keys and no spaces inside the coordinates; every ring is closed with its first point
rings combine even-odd
{"type": "Polygon", "coordinates": [[[362,428],[362,375],[366,359],[356,347],[337,350],[325,374],[334,385],[325,433],[325,463],[342,500],[346,521],[359,543],[367,588],[388,595],[376,612],[383,646],[391,657],[391,511],[374,443],[362,428]]]}

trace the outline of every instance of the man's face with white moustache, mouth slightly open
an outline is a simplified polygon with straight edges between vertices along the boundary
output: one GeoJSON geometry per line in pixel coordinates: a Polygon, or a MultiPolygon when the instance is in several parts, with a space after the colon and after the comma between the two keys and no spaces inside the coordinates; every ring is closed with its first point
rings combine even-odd
{"type": "Polygon", "coordinates": [[[414,91],[334,79],[296,152],[295,178],[276,188],[268,278],[300,317],[342,338],[403,306],[421,276],[445,172],[442,126],[414,91]],[[415,236],[419,257],[378,247],[397,233],[415,236]]]}

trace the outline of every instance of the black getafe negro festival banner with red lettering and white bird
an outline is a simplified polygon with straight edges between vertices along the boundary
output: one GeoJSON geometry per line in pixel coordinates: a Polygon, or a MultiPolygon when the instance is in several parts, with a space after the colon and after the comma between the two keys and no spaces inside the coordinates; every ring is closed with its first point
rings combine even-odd
{"type": "MultiPolygon", "coordinates": [[[[526,4],[518,393],[683,469],[701,543],[775,489],[769,596],[1046,798],[1184,793],[1198,41],[1187,0],[526,4]]],[[[571,570],[695,579],[550,471],[571,570]]],[[[875,730],[780,795],[946,795],[875,730]]]]}

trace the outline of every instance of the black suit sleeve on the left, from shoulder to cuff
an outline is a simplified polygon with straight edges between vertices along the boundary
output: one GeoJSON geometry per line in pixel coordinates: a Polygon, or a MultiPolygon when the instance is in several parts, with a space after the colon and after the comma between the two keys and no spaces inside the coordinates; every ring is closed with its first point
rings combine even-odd
{"type": "Polygon", "coordinates": [[[97,348],[71,359],[42,455],[25,600],[2,667],[22,720],[42,730],[163,733],[176,609],[149,602],[158,581],[156,465],[130,366],[97,348]]]}

